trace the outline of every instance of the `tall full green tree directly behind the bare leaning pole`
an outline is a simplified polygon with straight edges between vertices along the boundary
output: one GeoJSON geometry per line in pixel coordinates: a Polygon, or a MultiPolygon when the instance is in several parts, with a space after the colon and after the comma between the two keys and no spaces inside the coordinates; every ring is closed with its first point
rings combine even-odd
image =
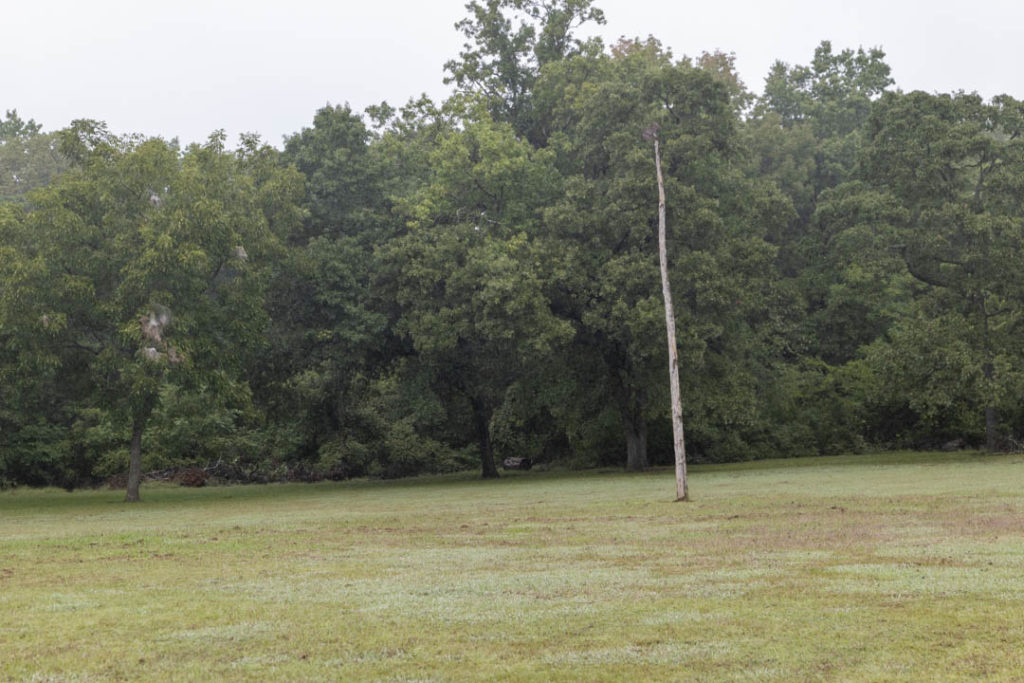
{"type": "Polygon", "coordinates": [[[683,392],[695,443],[707,454],[714,441],[736,438],[754,412],[742,398],[753,381],[741,350],[752,339],[744,315],[756,308],[752,289],[771,256],[759,231],[777,217],[774,203],[738,172],[735,110],[719,76],[673,59],[654,41],[626,41],[599,59],[558,65],[539,84],[558,102],[562,132],[551,147],[566,175],[545,221],[554,310],[575,329],[565,362],[575,388],[561,411],[583,439],[617,422],[631,469],[648,464],[648,421],[662,419],[668,404],[657,341],[665,328],[656,187],[641,138],[651,123],[663,139],[683,392]]]}

